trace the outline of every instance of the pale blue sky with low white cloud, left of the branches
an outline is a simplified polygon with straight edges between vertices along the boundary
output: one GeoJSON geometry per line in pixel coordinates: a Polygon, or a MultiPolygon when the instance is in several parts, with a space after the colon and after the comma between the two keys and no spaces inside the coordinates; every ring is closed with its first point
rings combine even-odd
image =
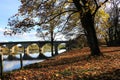
{"type": "Polygon", "coordinates": [[[0,1],[0,42],[15,42],[15,41],[38,41],[40,38],[36,37],[36,32],[25,34],[16,34],[13,36],[4,35],[5,27],[8,24],[8,18],[18,12],[20,6],[19,0],[1,0],[0,1]]]}

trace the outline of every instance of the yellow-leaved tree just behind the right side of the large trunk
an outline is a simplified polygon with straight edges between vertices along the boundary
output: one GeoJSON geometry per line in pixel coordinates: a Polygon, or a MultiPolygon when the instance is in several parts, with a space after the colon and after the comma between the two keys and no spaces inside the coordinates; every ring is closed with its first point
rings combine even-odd
{"type": "Polygon", "coordinates": [[[96,33],[98,36],[98,39],[102,40],[104,43],[108,43],[109,41],[109,36],[108,36],[108,29],[110,27],[109,24],[109,14],[107,13],[108,8],[105,6],[102,6],[95,17],[95,28],[96,28],[96,33]]]}

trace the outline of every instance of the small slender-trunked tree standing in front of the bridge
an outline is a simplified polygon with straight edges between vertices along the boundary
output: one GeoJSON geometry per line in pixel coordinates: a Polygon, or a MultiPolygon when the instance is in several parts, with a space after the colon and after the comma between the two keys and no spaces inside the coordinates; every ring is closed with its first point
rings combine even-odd
{"type": "Polygon", "coordinates": [[[44,24],[43,26],[41,26],[40,28],[37,29],[37,34],[36,34],[36,35],[42,36],[44,38],[44,40],[46,40],[46,38],[47,38],[47,40],[51,40],[52,56],[54,56],[54,53],[53,53],[54,40],[55,40],[56,35],[59,33],[59,32],[55,31],[55,28],[56,28],[55,26],[57,24],[58,24],[58,21],[56,21],[56,20],[54,20],[54,22],[51,21],[49,24],[44,24]]]}

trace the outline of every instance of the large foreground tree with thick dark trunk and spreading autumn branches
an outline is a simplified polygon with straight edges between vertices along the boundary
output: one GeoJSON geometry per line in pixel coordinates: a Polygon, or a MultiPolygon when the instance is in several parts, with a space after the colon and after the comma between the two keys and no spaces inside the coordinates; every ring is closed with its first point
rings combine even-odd
{"type": "MultiPolygon", "coordinates": [[[[101,55],[98,47],[98,40],[94,28],[94,18],[99,8],[108,0],[21,0],[19,14],[16,16],[24,16],[23,20],[17,25],[14,23],[14,28],[25,29],[31,28],[31,20],[35,20],[34,25],[49,24],[52,20],[57,19],[59,25],[64,31],[65,28],[80,26],[85,30],[88,44],[91,50],[91,55],[101,55]],[[24,23],[24,20],[28,21],[24,23]],[[26,27],[27,26],[27,27],[26,27]]],[[[11,21],[13,24],[14,21],[11,21]]],[[[33,25],[32,24],[32,25],[33,25]]],[[[13,26],[13,25],[11,25],[13,26]]]]}

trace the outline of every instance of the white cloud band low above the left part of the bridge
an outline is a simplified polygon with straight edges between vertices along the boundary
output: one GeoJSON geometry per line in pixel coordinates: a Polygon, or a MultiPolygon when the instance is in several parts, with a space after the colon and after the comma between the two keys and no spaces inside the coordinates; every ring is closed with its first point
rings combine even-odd
{"type": "Polygon", "coordinates": [[[4,29],[0,28],[0,42],[9,42],[9,41],[38,41],[40,40],[35,36],[36,32],[16,34],[16,35],[4,35],[4,29]]]}

